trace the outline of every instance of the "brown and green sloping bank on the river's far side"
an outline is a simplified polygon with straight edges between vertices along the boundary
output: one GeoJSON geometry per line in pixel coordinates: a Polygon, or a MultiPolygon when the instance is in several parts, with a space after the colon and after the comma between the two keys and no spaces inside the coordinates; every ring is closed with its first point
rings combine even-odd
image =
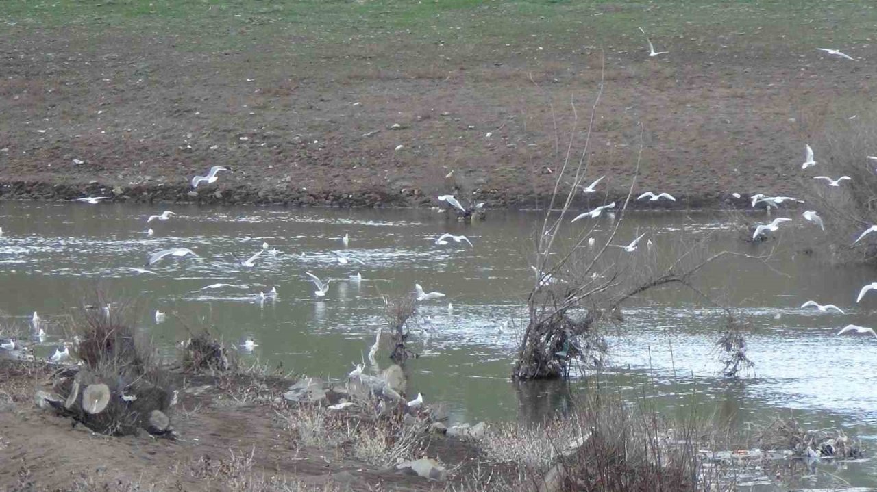
{"type": "Polygon", "coordinates": [[[29,5],[0,30],[4,198],[544,206],[603,79],[588,175],[622,195],[642,143],[636,191],[716,207],[794,193],[874,92],[859,3],[29,5]]]}

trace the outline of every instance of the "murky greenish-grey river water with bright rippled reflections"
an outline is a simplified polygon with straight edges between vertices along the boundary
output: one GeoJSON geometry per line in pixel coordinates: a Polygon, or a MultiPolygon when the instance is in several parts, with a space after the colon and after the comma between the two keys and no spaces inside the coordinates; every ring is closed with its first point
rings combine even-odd
{"type": "MultiPolygon", "coordinates": [[[[343,378],[374,342],[381,296],[413,292],[419,283],[446,297],[420,309],[422,330],[412,335],[411,348],[422,356],[407,364],[409,392],[445,402],[457,421],[544,417],[568,403],[565,392],[557,385],[516,387],[509,379],[541,217],[491,212],[488,220],[467,225],[427,209],[0,202],[0,310],[6,323],[25,324],[34,311],[48,320],[46,340],[37,346],[45,356],[69,336],[70,315],[101,290],[134,306],[132,317],[162,354],[173,356],[189,330],[210,327],[235,345],[252,338],[252,353],[241,349],[247,361],[343,378]],[[178,216],[153,221],[148,226],[154,234],[146,235],[146,217],[164,209],[178,216]],[[474,247],[435,244],[444,232],[467,235],[474,247]],[[350,238],[347,248],[343,235],[350,238]],[[260,251],[263,242],[269,250],[253,268],[234,259],[260,251]],[[192,248],[201,257],[166,259],[150,267],[153,273],[132,270],[172,247],[192,248]],[[364,264],[339,264],[340,251],[364,264]],[[332,279],[324,298],[313,294],[305,271],[332,279]],[[361,281],[351,278],[356,273],[361,281]],[[217,283],[236,286],[202,290],[217,283]],[[277,296],[261,299],[272,286],[277,296]],[[164,322],[156,323],[155,310],[167,313],[164,322]]],[[[597,234],[605,234],[610,220],[599,219],[597,234]]],[[[648,231],[661,251],[679,242],[682,231],[691,238],[716,235],[715,250],[754,255],[781,247],[768,264],[728,257],[696,280],[748,322],[748,355],[756,364],[748,374],[734,380],[720,375],[714,344],[721,310],[666,288],[624,306],[624,324],[610,330],[604,383],[645,396],[663,411],[696,406],[740,426],[794,415],[806,428],[842,427],[873,452],[877,340],[836,333],[849,323],[877,326],[877,295],[855,303],[859,287],[877,279],[877,271],[831,266],[819,254],[807,254],[818,235],[802,222],[781,229],[780,241],[753,245],[740,241],[721,214],[629,214],[618,243],[648,231]],[[836,304],[845,314],[801,309],[808,299],[836,304]]],[[[576,227],[564,234],[581,230],[576,227]]],[[[384,365],[388,350],[384,339],[378,355],[384,365]]],[[[829,474],[851,486],[877,487],[871,461],[820,465],[804,485],[838,483],[829,474]]]]}

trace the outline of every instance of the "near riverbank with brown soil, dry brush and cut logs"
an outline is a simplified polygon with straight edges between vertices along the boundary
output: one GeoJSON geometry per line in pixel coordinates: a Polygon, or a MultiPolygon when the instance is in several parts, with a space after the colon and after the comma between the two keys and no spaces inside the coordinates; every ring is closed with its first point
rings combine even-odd
{"type": "Polygon", "coordinates": [[[4,327],[18,345],[0,357],[0,488],[716,491],[766,470],[794,482],[814,453],[862,455],[858,439],[794,418],[741,435],[695,413],[661,416],[598,374],[545,421],[453,423],[441,403],[406,403],[396,363],[293,376],[245,365],[209,330],[160,360],[120,311],[83,313],[61,362],[34,359],[4,327]]]}

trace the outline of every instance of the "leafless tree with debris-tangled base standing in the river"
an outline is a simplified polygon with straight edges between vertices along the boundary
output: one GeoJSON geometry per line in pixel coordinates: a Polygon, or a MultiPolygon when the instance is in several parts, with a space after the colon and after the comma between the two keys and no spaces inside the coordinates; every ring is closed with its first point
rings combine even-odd
{"type": "MultiPolygon", "coordinates": [[[[608,194],[604,194],[600,207],[574,218],[576,195],[582,185],[591,182],[586,179],[594,178],[588,176],[588,144],[600,95],[602,85],[591,109],[586,141],[577,162],[573,150],[574,135],[579,129],[574,121],[566,156],[554,172],[552,200],[534,241],[535,262],[531,268],[535,274],[527,297],[528,319],[512,374],[519,381],[567,377],[574,363],[599,364],[606,352],[601,327],[624,321],[621,308],[626,301],[665,285],[683,286],[709,304],[722,307],[729,331],[736,327],[731,310],[698,289],[695,276],[720,257],[746,255],[731,251],[710,253],[709,235],[700,238],[680,235],[674,244],[669,248],[662,246],[660,251],[652,246],[647,231],[636,231],[632,237],[618,235],[637,185],[642,144],[624,199],[608,203],[608,194]],[[564,183],[570,185],[566,193],[560,189],[564,183]],[[607,216],[608,230],[600,230],[606,228],[607,221],[601,219],[607,216]],[[574,229],[574,233],[567,242],[564,238],[570,235],[569,229],[574,229]]],[[[745,358],[745,351],[738,350],[740,340],[734,341],[726,344],[728,352],[742,353],[745,358]]],[[[741,364],[737,364],[740,369],[741,364]]]]}

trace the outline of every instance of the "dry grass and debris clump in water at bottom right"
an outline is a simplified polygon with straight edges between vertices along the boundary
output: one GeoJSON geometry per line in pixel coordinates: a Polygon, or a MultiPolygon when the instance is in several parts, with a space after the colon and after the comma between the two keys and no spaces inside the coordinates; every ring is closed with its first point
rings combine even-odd
{"type": "Polygon", "coordinates": [[[760,436],[765,450],[788,450],[809,458],[860,458],[859,439],[850,439],[841,429],[804,430],[795,418],[777,418],[760,436]]]}

